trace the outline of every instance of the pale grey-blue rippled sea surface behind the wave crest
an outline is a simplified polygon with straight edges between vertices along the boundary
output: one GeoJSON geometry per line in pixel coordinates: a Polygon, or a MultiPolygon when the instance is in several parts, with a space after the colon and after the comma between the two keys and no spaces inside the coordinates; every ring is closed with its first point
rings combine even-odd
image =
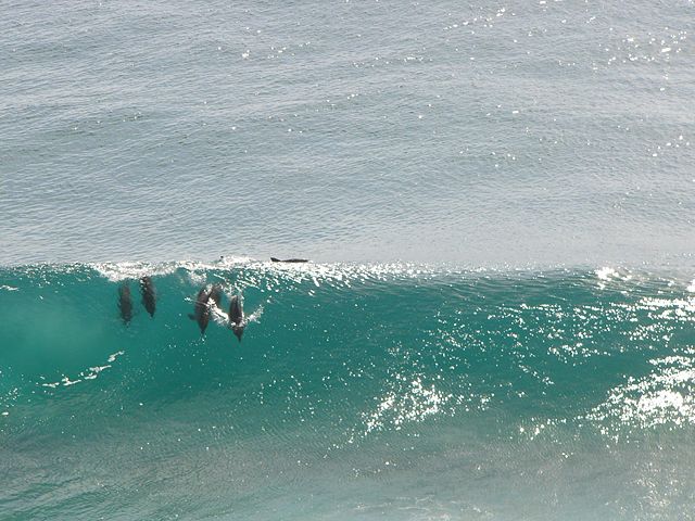
{"type": "Polygon", "coordinates": [[[0,10],[2,264],[695,243],[692,1],[0,10]]]}

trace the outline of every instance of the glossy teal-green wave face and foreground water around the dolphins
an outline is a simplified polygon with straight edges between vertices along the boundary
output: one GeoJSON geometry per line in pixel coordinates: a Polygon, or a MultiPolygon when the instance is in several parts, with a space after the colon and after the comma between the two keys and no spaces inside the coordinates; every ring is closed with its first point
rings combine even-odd
{"type": "Polygon", "coordinates": [[[4,519],[677,519],[695,291],[608,268],[0,270],[4,519]],[[151,318],[137,279],[157,290],[151,318]],[[130,279],[134,317],[117,291],[130,279]],[[243,293],[242,342],[189,320],[243,293]],[[448,518],[447,518],[448,517],[448,518]]]}

